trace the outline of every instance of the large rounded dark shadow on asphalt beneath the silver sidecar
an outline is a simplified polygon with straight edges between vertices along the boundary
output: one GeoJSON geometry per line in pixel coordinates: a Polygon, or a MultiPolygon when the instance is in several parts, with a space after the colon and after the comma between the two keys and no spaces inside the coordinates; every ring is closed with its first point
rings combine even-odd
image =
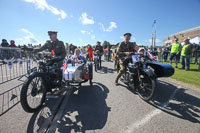
{"type": "Polygon", "coordinates": [[[102,129],[110,108],[106,104],[108,88],[100,83],[91,87],[81,87],[72,94],[58,123],[58,132],[85,132],[102,129]]]}

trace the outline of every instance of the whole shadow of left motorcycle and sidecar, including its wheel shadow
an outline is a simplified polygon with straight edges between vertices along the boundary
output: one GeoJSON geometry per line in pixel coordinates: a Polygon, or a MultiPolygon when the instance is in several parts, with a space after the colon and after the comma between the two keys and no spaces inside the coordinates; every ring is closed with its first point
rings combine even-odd
{"type": "MultiPolygon", "coordinates": [[[[55,132],[85,132],[87,130],[102,129],[108,117],[110,107],[106,104],[108,88],[100,83],[94,83],[93,87],[81,86],[71,93],[67,106],[61,119],[57,121],[55,132]]],[[[29,121],[27,132],[46,132],[50,122],[54,119],[56,108],[52,103],[47,104],[38,112],[34,113],[29,121]],[[52,108],[53,107],[53,108],[52,108]]]]}

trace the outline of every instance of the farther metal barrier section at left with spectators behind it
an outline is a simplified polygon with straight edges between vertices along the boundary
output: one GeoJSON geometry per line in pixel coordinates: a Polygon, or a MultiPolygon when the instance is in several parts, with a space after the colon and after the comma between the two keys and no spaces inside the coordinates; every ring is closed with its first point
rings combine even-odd
{"type": "Polygon", "coordinates": [[[20,78],[36,67],[31,51],[0,48],[0,84],[20,78]]]}

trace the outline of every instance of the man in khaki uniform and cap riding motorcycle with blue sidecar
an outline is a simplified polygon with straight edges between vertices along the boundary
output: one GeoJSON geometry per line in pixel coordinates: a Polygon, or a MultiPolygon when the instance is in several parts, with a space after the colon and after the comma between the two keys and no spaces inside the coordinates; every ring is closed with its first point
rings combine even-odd
{"type": "Polygon", "coordinates": [[[115,85],[118,85],[119,78],[125,72],[125,66],[123,64],[123,62],[124,62],[123,57],[129,56],[131,54],[131,52],[136,52],[137,45],[135,42],[130,42],[130,39],[131,39],[131,33],[125,33],[124,41],[119,43],[118,48],[117,48],[117,57],[119,59],[120,70],[115,79],[115,85]]]}

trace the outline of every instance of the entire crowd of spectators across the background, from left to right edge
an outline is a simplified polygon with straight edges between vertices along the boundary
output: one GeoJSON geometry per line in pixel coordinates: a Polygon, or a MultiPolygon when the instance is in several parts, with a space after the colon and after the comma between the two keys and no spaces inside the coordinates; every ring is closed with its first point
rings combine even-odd
{"type": "MultiPolygon", "coordinates": [[[[95,53],[95,51],[99,50],[101,56],[104,55],[104,57],[106,57],[106,59],[109,61],[111,58],[115,59],[118,45],[119,43],[103,49],[103,47],[101,46],[101,42],[98,41],[95,47],[92,47],[91,45],[88,44],[87,49],[83,49],[73,44],[70,44],[66,53],[73,55],[75,53],[75,50],[78,48],[80,50],[80,54],[82,54],[83,52],[86,53],[86,59],[89,61],[93,61],[94,58],[93,54],[95,53]]],[[[23,50],[24,55],[28,56],[31,55],[34,48],[36,47],[40,48],[41,44],[34,46],[32,44],[16,46],[14,40],[10,40],[9,44],[6,39],[2,39],[0,47],[20,48],[21,50],[23,50]]],[[[190,70],[191,63],[197,65],[199,64],[199,71],[200,71],[200,45],[191,44],[189,39],[185,39],[183,44],[179,42],[178,38],[175,38],[172,44],[166,44],[165,46],[158,46],[156,48],[147,46],[138,46],[138,47],[144,48],[150,54],[150,56],[152,56],[153,61],[158,61],[158,62],[169,61],[170,64],[172,64],[174,60],[176,68],[178,68],[178,63],[180,62],[181,63],[180,68],[185,69],[186,71],[190,70]]],[[[1,59],[4,58],[8,59],[8,56],[4,56],[7,55],[6,52],[8,53],[8,51],[6,50],[1,52],[0,55],[1,59]]]]}

